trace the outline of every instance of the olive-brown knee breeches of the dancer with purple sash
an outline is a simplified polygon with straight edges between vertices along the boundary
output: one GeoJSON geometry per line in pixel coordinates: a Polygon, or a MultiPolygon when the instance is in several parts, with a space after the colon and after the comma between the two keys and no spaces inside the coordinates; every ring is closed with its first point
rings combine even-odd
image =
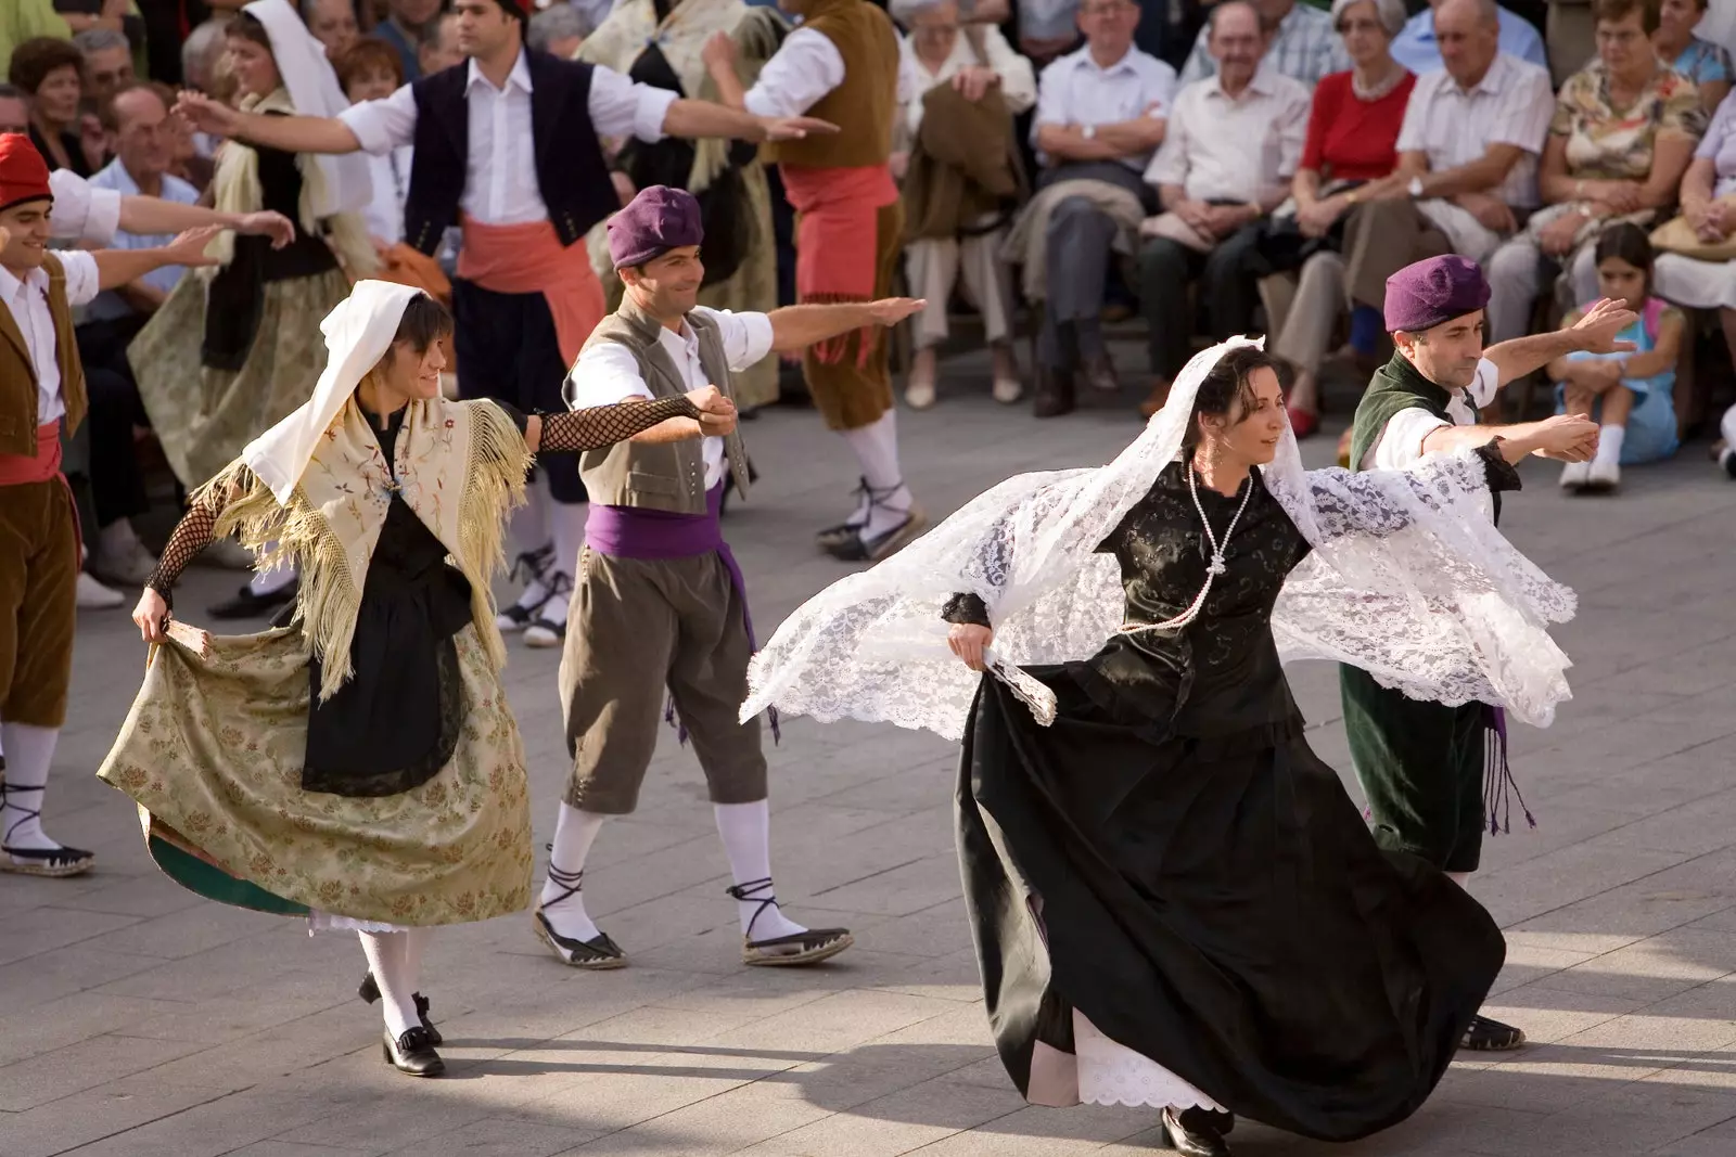
{"type": "Polygon", "coordinates": [[[674,696],[712,803],[766,798],[759,718],[738,722],[748,694],[748,645],[740,592],[715,553],[616,559],[585,546],[561,656],[566,801],[625,815],[639,805],[663,696],[674,696]]]}

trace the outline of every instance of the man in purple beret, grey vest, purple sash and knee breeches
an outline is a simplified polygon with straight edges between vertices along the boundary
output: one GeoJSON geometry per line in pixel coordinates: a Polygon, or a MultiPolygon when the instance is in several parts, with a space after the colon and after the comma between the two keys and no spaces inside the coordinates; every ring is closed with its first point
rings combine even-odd
{"type": "MultiPolygon", "coordinates": [[[[609,222],[621,307],[602,319],[566,378],[573,408],[684,394],[698,382],[734,399],[731,375],[774,352],[891,326],[922,302],[887,298],[792,305],[769,314],[696,305],[705,264],[693,194],[651,186],[609,222]]],[[[573,777],[561,803],[536,935],[575,968],[620,968],[627,956],[585,914],[585,855],[602,820],[639,801],[658,718],[679,718],[710,789],[729,857],[748,964],[812,964],[851,945],[845,928],[804,928],[771,883],[771,812],[759,720],[736,718],[748,692],[753,624],[719,531],[726,484],[748,494],[741,434],[693,437],[686,418],[580,458],[590,493],[585,550],[561,657],[573,777]]],[[[776,734],[776,718],[773,720],[776,734]]]]}

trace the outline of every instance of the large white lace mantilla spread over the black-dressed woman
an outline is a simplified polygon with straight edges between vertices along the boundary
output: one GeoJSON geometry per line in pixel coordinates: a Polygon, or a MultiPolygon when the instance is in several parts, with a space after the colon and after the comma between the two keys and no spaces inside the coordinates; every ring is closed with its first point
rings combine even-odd
{"type": "MultiPolygon", "coordinates": [[[[1248,343],[1194,356],[1109,465],[1012,477],[807,600],[753,657],[741,716],[776,706],[960,739],[977,675],[948,650],[941,609],[969,592],[990,607],[996,675],[1049,722],[1052,694],[1017,666],[1090,657],[1121,624],[1120,567],[1095,548],[1175,461],[1200,382],[1248,343]]],[[[1349,663],[1415,699],[1552,722],[1569,696],[1569,661],[1547,624],[1573,618],[1575,597],[1489,522],[1477,454],[1430,454],[1411,470],[1304,470],[1286,430],[1262,474],[1314,546],[1272,612],[1283,661],[1349,663]]]]}

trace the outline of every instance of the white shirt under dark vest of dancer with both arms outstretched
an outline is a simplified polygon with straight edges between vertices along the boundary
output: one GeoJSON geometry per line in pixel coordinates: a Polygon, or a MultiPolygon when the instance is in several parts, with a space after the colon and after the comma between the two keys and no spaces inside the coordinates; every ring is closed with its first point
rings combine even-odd
{"type": "MultiPolygon", "coordinates": [[[[465,106],[470,116],[470,149],[465,158],[464,212],[484,226],[521,226],[547,220],[536,187],[536,142],[531,137],[531,69],[524,52],[512,64],[507,83],[496,88],[476,61],[469,62],[465,106]]],[[[590,73],[590,128],[599,137],[663,139],[663,118],[679,94],[635,85],[601,64],[590,73]]],[[[417,99],[404,85],[380,101],[352,104],[339,114],[363,151],[380,156],[415,144],[417,99]]],[[[561,132],[556,127],[554,132],[561,132]]]]}

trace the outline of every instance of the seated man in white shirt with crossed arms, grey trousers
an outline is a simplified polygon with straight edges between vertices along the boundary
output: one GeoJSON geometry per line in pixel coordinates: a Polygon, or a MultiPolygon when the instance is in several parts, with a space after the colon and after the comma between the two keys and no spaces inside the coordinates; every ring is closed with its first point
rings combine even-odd
{"type": "Polygon", "coordinates": [[[1130,0],[1085,0],[1078,24],[1085,45],[1038,82],[1031,144],[1045,168],[1007,238],[1024,297],[1043,309],[1038,418],[1073,409],[1075,373],[1097,390],[1120,385],[1102,343],[1109,253],[1132,255],[1141,219],[1156,208],[1141,173],[1175,95],[1175,69],[1134,47],[1130,0]]]}

